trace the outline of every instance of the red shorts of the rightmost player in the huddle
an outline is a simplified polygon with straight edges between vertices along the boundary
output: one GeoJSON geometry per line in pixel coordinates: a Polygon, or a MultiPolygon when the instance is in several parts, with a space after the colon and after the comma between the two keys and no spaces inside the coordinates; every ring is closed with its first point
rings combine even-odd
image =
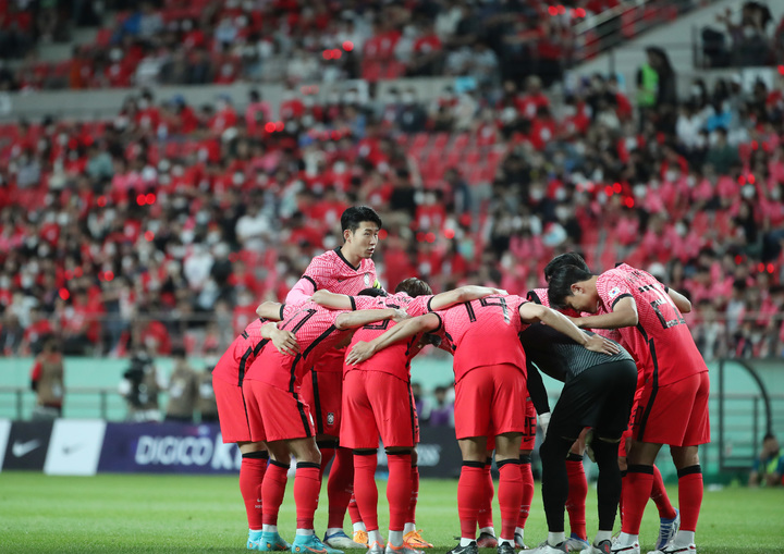
{"type": "Polygon", "coordinates": [[[709,393],[707,371],[657,390],[644,389],[634,420],[635,441],[671,446],[709,443],[709,393]]]}

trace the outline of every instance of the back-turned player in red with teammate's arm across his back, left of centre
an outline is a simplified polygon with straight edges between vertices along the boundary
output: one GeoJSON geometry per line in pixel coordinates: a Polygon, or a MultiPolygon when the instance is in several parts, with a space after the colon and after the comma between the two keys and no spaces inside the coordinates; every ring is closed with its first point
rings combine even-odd
{"type": "MultiPolygon", "coordinates": [[[[411,278],[395,287],[395,294],[380,298],[380,304],[404,308],[408,316],[414,317],[499,293],[504,291],[464,286],[433,296],[430,285],[411,278]]],[[[334,309],[351,308],[355,301],[348,296],[323,291],[316,292],[313,300],[334,309]]],[[[389,321],[366,325],[354,334],[352,345],[369,342],[389,327],[389,321]]],[[[405,344],[395,344],[358,366],[344,367],[341,444],[354,451],[354,491],[373,554],[383,552],[375,481],[379,435],[387,451],[390,472],[387,484],[390,505],[387,553],[419,552],[416,550],[418,544],[411,540],[412,531],[417,532],[414,522],[416,495],[412,493],[414,481],[418,483],[418,469],[413,459],[419,431],[411,392],[411,360],[420,349],[419,338],[416,336],[405,344]],[[413,529],[406,532],[406,525],[413,529]]]]}

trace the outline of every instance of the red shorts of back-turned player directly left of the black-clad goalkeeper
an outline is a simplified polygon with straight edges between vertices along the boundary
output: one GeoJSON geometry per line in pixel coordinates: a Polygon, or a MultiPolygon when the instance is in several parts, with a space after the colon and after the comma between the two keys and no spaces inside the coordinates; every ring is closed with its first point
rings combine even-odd
{"type": "Polygon", "coordinates": [[[526,378],[509,364],[471,369],[455,386],[455,434],[495,436],[525,430],[526,378]]]}

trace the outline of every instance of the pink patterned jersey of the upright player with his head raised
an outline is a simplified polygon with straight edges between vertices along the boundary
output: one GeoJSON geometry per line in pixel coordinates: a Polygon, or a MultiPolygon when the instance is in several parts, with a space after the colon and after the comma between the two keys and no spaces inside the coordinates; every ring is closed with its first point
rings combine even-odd
{"type": "Polygon", "coordinates": [[[310,281],[316,291],[354,295],[375,286],[376,264],[371,259],[363,258],[359,267],[355,268],[336,248],[316,256],[303,273],[303,279],[310,281]]]}

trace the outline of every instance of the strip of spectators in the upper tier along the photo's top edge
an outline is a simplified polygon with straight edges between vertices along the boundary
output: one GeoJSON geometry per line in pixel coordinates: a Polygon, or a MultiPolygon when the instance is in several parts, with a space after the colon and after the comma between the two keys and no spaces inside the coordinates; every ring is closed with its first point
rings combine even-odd
{"type": "MultiPolygon", "coordinates": [[[[575,24],[624,4],[622,0],[473,1],[407,0],[113,0],[115,11],[91,44],[73,47],[70,60],[40,60],[33,46],[41,5],[4,0],[2,57],[23,57],[19,71],[0,76],[0,89],[107,88],[156,84],[229,84],[285,79],[338,82],[428,75],[473,75],[480,86],[499,76],[537,74],[558,79],[573,53],[599,48],[575,24]],[[23,7],[24,5],[24,7],[23,7]],[[36,12],[37,10],[37,12],[36,12]],[[16,14],[16,15],[14,15],[16,14]],[[15,17],[15,19],[14,19],[15,17]],[[16,20],[26,23],[14,23],[16,20]]],[[[60,2],[66,4],[66,2],[60,2]]],[[[649,2],[634,5],[659,21],[649,2]]],[[[697,4],[682,0],[679,4],[697,4]]],[[[84,4],[64,11],[85,20],[84,4]]],[[[621,24],[612,30],[621,35],[621,24]]],[[[604,30],[602,30],[604,33],[604,30]]],[[[636,24],[623,29],[623,38],[636,24]]],[[[602,38],[604,40],[604,38],[602,38]]]]}

